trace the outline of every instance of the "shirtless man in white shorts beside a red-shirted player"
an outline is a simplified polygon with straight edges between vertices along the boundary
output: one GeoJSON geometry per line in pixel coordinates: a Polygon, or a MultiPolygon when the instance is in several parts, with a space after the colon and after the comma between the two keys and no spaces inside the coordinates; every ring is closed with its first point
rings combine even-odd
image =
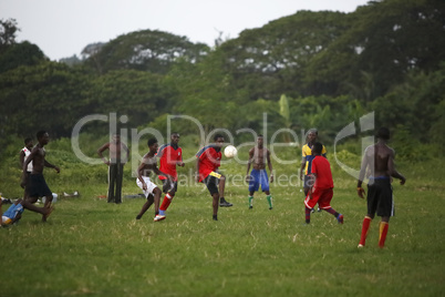
{"type": "Polygon", "coordinates": [[[157,187],[157,185],[155,183],[153,183],[149,180],[149,175],[152,172],[154,172],[157,175],[163,175],[163,176],[167,177],[168,180],[170,180],[170,182],[172,182],[172,176],[163,173],[157,167],[157,164],[156,164],[156,162],[157,162],[156,153],[157,153],[157,148],[158,148],[157,140],[149,139],[147,142],[147,145],[148,145],[149,151],[142,158],[141,165],[137,168],[137,180],[136,180],[137,186],[144,191],[144,195],[147,198],[147,201],[142,206],[142,209],[141,209],[139,214],[136,216],[136,219],[141,219],[141,217],[149,208],[149,206],[152,206],[152,204],[155,203],[154,221],[159,222],[166,217],[165,215],[159,215],[159,199],[161,199],[162,191],[161,191],[161,188],[157,187]]]}

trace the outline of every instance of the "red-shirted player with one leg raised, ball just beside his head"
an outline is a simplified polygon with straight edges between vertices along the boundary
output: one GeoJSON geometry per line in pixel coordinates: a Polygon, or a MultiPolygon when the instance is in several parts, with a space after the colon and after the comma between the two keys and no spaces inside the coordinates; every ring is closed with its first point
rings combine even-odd
{"type": "Polygon", "coordinates": [[[214,141],[215,144],[203,147],[196,154],[196,181],[207,185],[207,188],[213,197],[213,218],[214,221],[218,221],[218,202],[219,206],[222,207],[230,207],[232,204],[224,198],[226,177],[218,172],[222,155],[221,147],[224,144],[224,137],[220,134],[216,134],[214,141]]]}

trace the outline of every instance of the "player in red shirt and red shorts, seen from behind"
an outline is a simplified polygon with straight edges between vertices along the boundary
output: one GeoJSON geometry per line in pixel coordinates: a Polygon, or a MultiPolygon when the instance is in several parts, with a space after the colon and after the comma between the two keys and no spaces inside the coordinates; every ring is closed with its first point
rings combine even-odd
{"type": "Polygon", "coordinates": [[[319,208],[333,215],[340,224],[343,224],[343,215],[339,214],[331,207],[333,196],[333,181],[331,164],[328,158],[321,155],[323,145],[315,142],[312,145],[312,166],[310,181],[308,182],[309,190],[304,199],[306,205],[306,224],[311,222],[311,209],[319,204],[319,208]]]}

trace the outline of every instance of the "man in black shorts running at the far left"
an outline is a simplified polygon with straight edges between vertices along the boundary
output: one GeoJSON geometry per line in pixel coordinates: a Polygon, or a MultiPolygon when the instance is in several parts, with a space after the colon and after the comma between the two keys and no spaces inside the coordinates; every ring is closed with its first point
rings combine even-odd
{"type": "Polygon", "coordinates": [[[28,197],[23,199],[23,207],[43,215],[42,221],[45,222],[46,217],[52,212],[51,202],[52,202],[52,192],[48,187],[46,182],[43,177],[43,168],[50,167],[54,168],[58,173],[60,173],[60,168],[55,165],[50,164],[45,160],[45,150],[44,146],[50,142],[50,135],[45,131],[39,131],[37,133],[38,144],[32,148],[31,154],[27,157],[23,163],[23,175],[22,175],[22,186],[27,186],[25,192],[28,193],[28,197]],[[29,175],[29,181],[27,181],[27,170],[28,164],[32,162],[32,172],[29,175]],[[44,207],[35,207],[32,205],[38,201],[39,197],[45,197],[44,207]]]}

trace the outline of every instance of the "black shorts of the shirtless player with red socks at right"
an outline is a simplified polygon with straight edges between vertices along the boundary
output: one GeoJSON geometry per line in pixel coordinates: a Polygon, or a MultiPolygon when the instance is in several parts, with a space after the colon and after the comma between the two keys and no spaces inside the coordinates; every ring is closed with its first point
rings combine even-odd
{"type": "Polygon", "coordinates": [[[368,214],[394,216],[393,187],[390,178],[373,178],[368,185],[368,214]]]}

